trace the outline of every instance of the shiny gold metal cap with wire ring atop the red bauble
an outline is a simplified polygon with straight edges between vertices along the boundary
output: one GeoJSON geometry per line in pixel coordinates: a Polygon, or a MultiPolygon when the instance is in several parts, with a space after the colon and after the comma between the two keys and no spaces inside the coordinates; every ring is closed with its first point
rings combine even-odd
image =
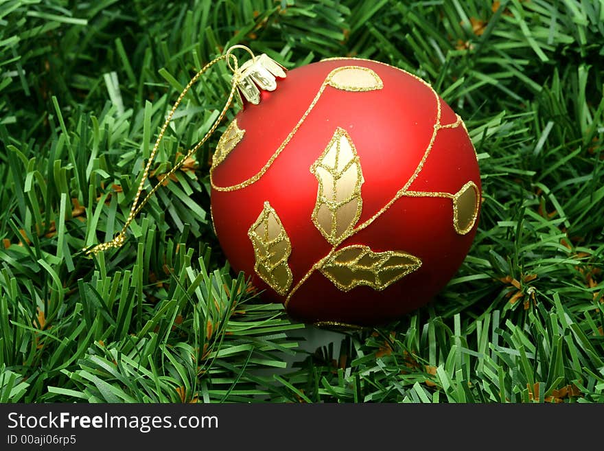
{"type": "Polygon", "coordinates": [[[233,45],[227,51],[227,65],[237,77],[237,98],[243,104],[242,96],[251,104],[260,103],[260,90],[275,91],[277,78],[286,78],[287,69],[270,58],[267,54],[255,56],[253,51],[244,45],[233,45]],[[237,68],[231,67],[231,52],[235,49],[244,49],[252,56],[251,60],[237,68]]]}

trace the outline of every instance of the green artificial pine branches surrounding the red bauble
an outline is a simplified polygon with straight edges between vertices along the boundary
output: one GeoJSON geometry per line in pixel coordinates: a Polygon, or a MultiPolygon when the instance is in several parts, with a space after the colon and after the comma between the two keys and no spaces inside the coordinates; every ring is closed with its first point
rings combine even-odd
{"type": "MultiPolygon", "coordinates": [[[[0,402],[604,402],[603,49],[595,0],[0,0],[0,402]],[[310,326],[212,232],[226,121],[123,248],[82,254],[123,226],[183,86],[237,43],[288,68],[388,62],[465,119],[485,201],[433,303],[305,350],[310,326]]],[[[185,97],[155,174],[228,89],[218,65],[185,97]]]]}

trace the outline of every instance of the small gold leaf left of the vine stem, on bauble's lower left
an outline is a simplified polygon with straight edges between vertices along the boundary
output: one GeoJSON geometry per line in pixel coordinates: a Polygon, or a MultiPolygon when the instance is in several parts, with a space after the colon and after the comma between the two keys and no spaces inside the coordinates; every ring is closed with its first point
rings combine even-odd
{"type": "Polygon", "coordinates": [[[284,295],[292,285],[288,259],[292,253],[290,238],[283,229],[277,211],[268,202],[248,230],[256,263],[254,270],[277,293],[284,295]]]}

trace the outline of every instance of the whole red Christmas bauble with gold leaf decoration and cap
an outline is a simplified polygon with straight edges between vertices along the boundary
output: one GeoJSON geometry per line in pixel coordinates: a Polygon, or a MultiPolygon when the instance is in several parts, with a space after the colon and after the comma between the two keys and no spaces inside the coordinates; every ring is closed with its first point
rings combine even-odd
{"type": "Polygon", "coordinates": [[[211,169],[231,266],[316,325],[377,325],[428,303],[476,233],[480,173],[461,118],[380,62],[253,67],[211,169]]]}

